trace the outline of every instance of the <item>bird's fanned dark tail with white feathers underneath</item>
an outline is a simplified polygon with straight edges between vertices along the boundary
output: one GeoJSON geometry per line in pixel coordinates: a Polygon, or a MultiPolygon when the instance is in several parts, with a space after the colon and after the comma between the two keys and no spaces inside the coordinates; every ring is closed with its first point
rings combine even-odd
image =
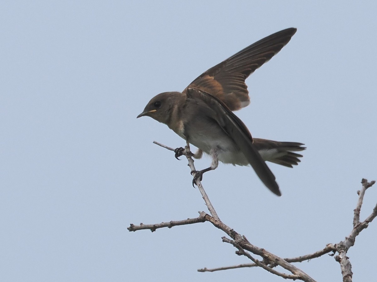
{"type": "Polygon", "coordinates": [[[254,146],[264,161],[288,166],[289,168],[293,168],[293,165],[298,165],[299,158],[302,157],[302,155],[294,152],[306,149],[306,147],[302,147],[304,144],[297,142],[279,142],[259,138],[253,138],[253,140],[254,146]]]}

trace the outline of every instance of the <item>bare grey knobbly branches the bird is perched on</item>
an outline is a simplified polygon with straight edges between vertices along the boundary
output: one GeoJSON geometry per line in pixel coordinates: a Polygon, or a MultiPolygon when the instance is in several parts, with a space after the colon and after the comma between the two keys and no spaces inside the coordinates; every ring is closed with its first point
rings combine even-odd
{"type": "MultiPolygon", "coordinates": [[[[170,151],[175,151],[175,149],[170,148],[168,146],[162,145],[158,142],[153,142],[159,146],[162,146],[170,151]]],[[[183,151],[183,155],[187,157],[187,160],[189,162],[189,167],[191,171],[195,171],[194,166],[194,160],[192,159],[192,152],[190,151],[189,143],[187,143],[187,146],[185,146],[185,149],[183,151]]],[[[366,189],[371,187],[375,181],[368,182],[366,179],[362,180],[362,189],[361,191],[357,191],[357,194],[359,195],[359,199],[357,201],[356,209],[354,209],[354,217],[353,217],[353,229],[348,237],[345,238],[344,241],[340,241],[338,244],[327,244],[325,248],[322,250],[319,250],[317,252],[314,252],[312,254],[299,256],[296,258],[279,258],[278,256],[268,252],[267,250],[263,248],[256,247],[252,245],[245,236],[241,236],[239,233],[235,232],[233,229],[225,225],[218,217],[215,209],[213,208],[208,195],[205,193],[204,188],[200,182],[199,179],[196,179],[196,184],[198,186],[199,191],[202,194],[202,197],[205,201],[205,204],[207,205],[207,208],[211,215],[208,215],[205,212],[200,212],[200,215],[197,218],[188,218],[187,220],[179,220],[179,221],[170,221],[170,222],[162,222],[159,224],[143,224],[141,223],[138,226],[135,226],[134,224],[130,224],[130,227],[127,229],[129,231],[137,231],[142,229],[149,229],[152,232],[154,232],[158,228],[168,227],[171,228],[173,226],[179,226],[179,225],[186,225],[186,224],[194,224],[194,223],[202,223],[205,221],[209,221],[212,223],[215,227],[218,229],[221,229],[225,233],[227,233],[228,236],[231,237],[231,239],[228,239],[226,237],[222,237],[223,242],[227,242],[229,244],[232,244],[234,247],[238,249],[236,251],[236,254],[243,255],[249,258],[254,263],[251,264],[240,264],[240,265],[234,265],[234,266],[228,266],[228,267],[219,267],[219,268],[202,268],[198,269],[199,272],[213,272],[213,271],[219,271],[219,270],[227,270],[227,269],[234,269],[234,268],[242,268],[242,267],[255,267],[259,266],[264,268],[265,270],[269,271],[270,273],[273,273],[277,276],[283,277],[285,279],[292,279],[292,280],[302,280],[302,281],[309,281],[309,282],[315,282],[313,278],[308,276],[306,273],[304,273],[299,268],[295,267],[294,265],[290,264],[291,262],[302,262],[307,261],[313,258],[318,258],[322,255],[325,255],[326,253],[330,256],[334,256],[337,252],[338,255],[335,256],[335,259],[340,264],[340,268],[342,271],[343,276],[343,282],[351,282],[352,281],[352,271],[351,271],[351,263],[349,262],[349,258],[346,256],[346,253],[350,247],[352,247],[355,243],[355,238],[359,233],[368,227],[368,224],[377,216],[377,204],[373,209],[373,212],[371,215],[369,215],[366,220],[363,222],[360,222],[360,210],[363,203],[363,198],[365,195],[366,189]],[[250,255],[250,253],[253,253],[254,255],[259,255],[263,259],[262,261],[259,261],[258,259],[255,259],[253,256],[250,255]],[[292,274],[285,274],[279,271],[274,270],[273,268],[277,265],[283,267],[285,270],[290,271],[292,274]]]]}

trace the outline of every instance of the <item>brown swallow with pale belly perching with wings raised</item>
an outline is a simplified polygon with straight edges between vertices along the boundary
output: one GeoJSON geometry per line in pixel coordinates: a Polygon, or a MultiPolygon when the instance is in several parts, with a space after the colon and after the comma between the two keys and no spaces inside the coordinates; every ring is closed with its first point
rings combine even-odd
{"type": "Polygon", "coordinates": [[[305,144],[253,138],[233,111],[250,104],[245,83],[248,76],[276,55],[296,30],[284,29],[251,44],[202,73],[182,92],[156,95],[137,116],[149,116],[165,123],[198,148],[194,158],[200,159],[203,152],[211,156],[211,166],[195,171],[193,183],[198,177],[202,180],[204,172],[216,169],[219,161],[251,165],[262,183],[274,194],[281,195],[276,178],[265,162],[292,168],[302,157],[296,151],[305,150],[305,144]]]}

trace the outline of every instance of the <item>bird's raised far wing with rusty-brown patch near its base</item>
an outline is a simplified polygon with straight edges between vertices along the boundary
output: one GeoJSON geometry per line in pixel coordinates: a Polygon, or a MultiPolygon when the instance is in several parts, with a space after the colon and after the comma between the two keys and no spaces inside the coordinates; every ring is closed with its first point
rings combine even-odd
{"type": "Polygon", "coordinates": [[[279,52],[296,30],[284,29],[251,44],[202,73],[182,93],[186,94],[187,89],[193,87],[215,96],[231,111],[246,107],[250,98],[245,79],[279,52]]]}

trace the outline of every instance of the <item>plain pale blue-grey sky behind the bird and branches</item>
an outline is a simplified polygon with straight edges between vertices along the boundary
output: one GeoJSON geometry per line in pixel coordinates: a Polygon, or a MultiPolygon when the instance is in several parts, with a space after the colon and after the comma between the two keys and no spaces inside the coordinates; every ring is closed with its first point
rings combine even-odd
{"type": "MultiPolygon", "coordinates": [[[[0,280],[281,281],[256,268],[198,273],[248,262],[209,223],[126,228],[206,210],[186,161],[152,144],[184,140],[136,120],[149,99],[287,27],[297,33],[247,79],[251,105],[236,114],[254,137],[305,143],[302,162],[269,165],[280,198],[248,167],[220,164],[203,185],[224,223],[281,257],[344,239],[361,179],[377,178],[376,10],[374,1],[3,1],[0,280]]],[[[354,281],[375,279],[376,232],[373,222],[348,253],[354,281]]],[[[297,266],[341,281],[332,257],[297,266]]]]}

